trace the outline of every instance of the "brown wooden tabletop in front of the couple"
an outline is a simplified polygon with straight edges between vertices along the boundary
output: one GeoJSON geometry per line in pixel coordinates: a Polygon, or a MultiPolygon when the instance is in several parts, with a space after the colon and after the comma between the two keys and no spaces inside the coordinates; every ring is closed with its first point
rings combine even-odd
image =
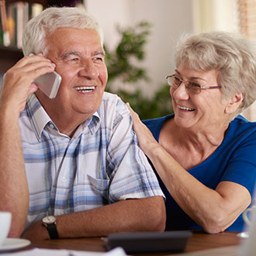
{"type": "MultiPolygon", "coordinates": [[[[237,232],[223,232],[220,234],[206,234],[202,231],[193,231],[192,237],[189,238],[185,251],[201,251],[209,248],[224,247],[229,245],[239,244],[242,239],[237,237],[237,232]]],[[[100,237],[73,238],[73,239],[57,239],[57,240],[42,240],[30,244],[28,247],[22,248],[19,251],[25,251],[34,247],[48,249],[67,249],[77,251],[106,251],[100,237]]],[[[140,255],[170,255],[177,254],[166,252],[157,254],[140,254],[140,255]]],[[[1,256],[1,254],[0,254],[1,256]]]]}

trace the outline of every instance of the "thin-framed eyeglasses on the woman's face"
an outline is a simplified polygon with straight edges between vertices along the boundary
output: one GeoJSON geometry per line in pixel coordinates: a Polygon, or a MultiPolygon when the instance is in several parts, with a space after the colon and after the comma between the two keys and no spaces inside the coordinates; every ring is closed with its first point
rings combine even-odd
{"type": "Polygon", "coordinates": [[[171,87],[177,89],[182,83],[185,84],[185,90],[189,94],[199,94],[202,89],[218,89],[221,86],[200,86],[199,84],[195,83],[195,81],[183,81],[181,78],[175,76],[175,74],[167,75],[166,76],[167,83],[171,87]]]}

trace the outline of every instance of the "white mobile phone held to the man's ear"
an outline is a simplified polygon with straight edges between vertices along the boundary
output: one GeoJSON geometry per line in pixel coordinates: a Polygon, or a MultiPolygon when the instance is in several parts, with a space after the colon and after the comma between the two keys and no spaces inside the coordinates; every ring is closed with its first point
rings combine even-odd
{"type": "MultiPolygon", "coordinates": [[[[29,56],[32,55],[34,54],[29,54],[29,56]]],[[[61,75],[57,74],[56,71],[43,74],[39,78],[36,78],[34,83],[45,95],[47,95],[50,99],[54,99],[61,85],[61,75]]]]}

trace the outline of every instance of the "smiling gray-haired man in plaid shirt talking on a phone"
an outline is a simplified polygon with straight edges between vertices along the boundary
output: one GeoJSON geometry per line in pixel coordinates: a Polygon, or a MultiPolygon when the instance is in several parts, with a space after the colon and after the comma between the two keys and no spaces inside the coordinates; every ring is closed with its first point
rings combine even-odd
{"type": "Polygon", "coordinates": [[[27,24],[23,53],[0,98],[0,210],[12,212],[9,237],[164,230],[163,194],[130,112],[104,92],[99,24],[81,9],[46,9],[27,24]],[[62,80],[50,99],[33,81],[53,71],[62,80]]]}

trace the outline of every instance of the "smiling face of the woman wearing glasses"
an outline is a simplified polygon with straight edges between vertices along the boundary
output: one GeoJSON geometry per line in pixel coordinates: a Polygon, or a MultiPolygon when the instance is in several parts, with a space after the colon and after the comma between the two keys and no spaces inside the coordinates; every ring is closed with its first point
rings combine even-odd
{"type": "MultiPolygon", "coordinates": [[[[218,86],[216,69],[194,71],[182,63],[175,70],[175,76],[183,81],[194,81],[200,86],[218,86]]],[[[175,123],[183,128],[203,130],[206,126],[223,126],[227,123],[225,109],[227,101],[223,100],[221,89],[202,89],[199,94],[190,95],[185,84],[170,89],[175,123]]]]}

